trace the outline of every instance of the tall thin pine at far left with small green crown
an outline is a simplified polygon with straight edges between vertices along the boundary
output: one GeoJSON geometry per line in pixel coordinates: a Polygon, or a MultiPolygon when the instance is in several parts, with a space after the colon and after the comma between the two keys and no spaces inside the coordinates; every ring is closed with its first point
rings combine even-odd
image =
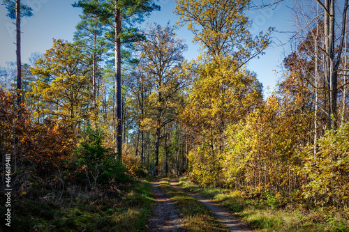
{"type": "MultiPolygon", "coordinates": [[[[16,59],[17,59],[17,91],[22,89],[22,62],[21,62],[21,17],[33,16],[33,10],[21,3],[20,0],[3,0],[8,10],[7,16],[16,20],[16,59]],[[22,10],[22,13],[21,13],[22,10]]],[[[21,94],[18,92],[17,105],[20,106],[21,94]]]]}

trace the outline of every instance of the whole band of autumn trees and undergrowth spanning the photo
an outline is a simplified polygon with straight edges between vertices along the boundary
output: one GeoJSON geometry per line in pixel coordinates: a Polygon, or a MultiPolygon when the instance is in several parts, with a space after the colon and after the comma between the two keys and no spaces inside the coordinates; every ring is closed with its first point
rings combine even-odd
{"type": "Polygon", "coordinates": [[[0,148],[3,165],[13,154],[18,194],[38,183],[97,190],[128,181],[125,166],[134,176],[186,172],[200,185],[348,207],[348,29],[346,16],[334,17],[348,1],[314,11],[266,99],[246,63],[272,29],[248,31],[250,1],[177,1],[179,25],[201,46],[195,61],[170,24],[133,28],[156,5],[122,2],[75,3],[83,13],[74,42],[54,39],[22,65],[22,105],[3,70],[0,148]]]}

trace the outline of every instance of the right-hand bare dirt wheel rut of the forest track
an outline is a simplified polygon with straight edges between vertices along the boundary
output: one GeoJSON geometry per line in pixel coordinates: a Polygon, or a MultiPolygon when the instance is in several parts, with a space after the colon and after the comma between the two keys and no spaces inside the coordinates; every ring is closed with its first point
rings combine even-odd
{"type": "Polygon", "coordinates": [[[251,229],[248,229],[248,226],[246,226],[241,220],[239,220],[237,217],[235,217],[230,212],[228,212],[228,210],[225,210],[225,208],[218,206],[211,199],[207,199],[206,197],[201,196],[199,194],[195,194],[195,193],[187,192],[183,190],[181,187],[178,186],[179,184],[178,180],[170,180],[170,184],[176,190],[179,190],[181,192],[184,192],[185,194],[193,196],[195,199],[200,201],[204,206],[206,206],[206,208],[211,210],[211,212],[213,212],[214,215],[216,215],[216,217],[218,218],[218,222],[221,222],[222,224],[227,226],[227,228],[230,231],[237,231],[237,232],[252,231],[251,229]]]}

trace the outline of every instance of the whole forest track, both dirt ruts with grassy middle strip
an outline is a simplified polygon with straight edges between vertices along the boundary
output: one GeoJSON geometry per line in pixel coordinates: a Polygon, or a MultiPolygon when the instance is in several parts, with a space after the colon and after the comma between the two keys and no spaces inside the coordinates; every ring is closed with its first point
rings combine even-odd
{"type": "Polygon", "coordinates": [[[155,206],[149,231],[251,231],[214,201],[178,185],[179,180],[167,178],[151,183],[155,206]]]}

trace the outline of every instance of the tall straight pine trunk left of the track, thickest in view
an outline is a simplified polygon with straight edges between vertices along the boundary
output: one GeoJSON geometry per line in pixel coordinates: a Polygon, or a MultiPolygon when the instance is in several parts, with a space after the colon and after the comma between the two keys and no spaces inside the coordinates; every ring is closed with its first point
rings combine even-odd
{"type": "Polygon", "coordinates": [[[121,12],[115,0],[115,145],[118,162],[122,162],[122,126],[121,126],[121,41],[119,38],[121,29],[121,12]]]}

